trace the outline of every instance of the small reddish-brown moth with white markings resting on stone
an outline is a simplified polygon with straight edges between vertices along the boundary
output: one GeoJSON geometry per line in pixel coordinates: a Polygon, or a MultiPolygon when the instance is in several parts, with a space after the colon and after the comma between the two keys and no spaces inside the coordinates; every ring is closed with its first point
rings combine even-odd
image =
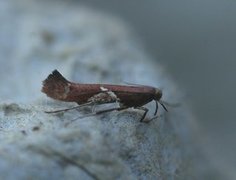
{"type": "Polygon", "coordinates": [[[119,103],[119,107],[97,111],[94,114],[134,108],[144,111],[140,120],[142,122],[148,112],[148,109],[143,107],[143,105],[152,100],[156,103],[154,117],[157,114],[158,103],[167,111],[161,101],[162,91],[158,88],[143,85],[73,83],[65,79],[57,70],[54,70],[52,74],[43,81],[42,92],[56,100],[76,102],[79,104],[73,108],[49,111],[47,113],[68,111],[82,106],[119,103]]]}

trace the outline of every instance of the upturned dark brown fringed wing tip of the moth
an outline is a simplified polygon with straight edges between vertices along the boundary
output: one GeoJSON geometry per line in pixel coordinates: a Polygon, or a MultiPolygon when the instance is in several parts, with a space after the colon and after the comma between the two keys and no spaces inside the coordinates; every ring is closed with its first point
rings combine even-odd
{"type": "Polygon", "coordinates": [[[61,99],[65,93],[65,87],[68,86],[69,81],[67,81],[61,73],[54,70],[48,77],[43,81],[42,92],[47,96],[54,99],[61,99]]]}

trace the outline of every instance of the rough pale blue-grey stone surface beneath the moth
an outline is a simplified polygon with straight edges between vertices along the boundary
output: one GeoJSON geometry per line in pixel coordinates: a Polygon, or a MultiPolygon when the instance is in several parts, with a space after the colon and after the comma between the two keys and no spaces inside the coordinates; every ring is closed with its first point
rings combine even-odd
{"type": "MultiPolygon", "coordinates": [[[[167,102],[182,101],[119,19],[59,1],[0,1],[1,179],[189,179],[193,117],[184,106],[140,123],[128,109],[71,120],[85,111],[40,92],[58,69],[76,82],[152,85],[167,102]],[[60,3],[59,3],[60,2],[60,3]]],[[[148,117],[155,105],[147,105],[148,117]]]]}

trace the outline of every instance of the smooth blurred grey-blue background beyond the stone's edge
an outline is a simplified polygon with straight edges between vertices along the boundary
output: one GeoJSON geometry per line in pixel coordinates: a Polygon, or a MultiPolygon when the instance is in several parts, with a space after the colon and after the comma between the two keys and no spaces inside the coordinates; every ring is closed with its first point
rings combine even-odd
{"type": "Polygon", "coordinates": [[[236,179],[236,1],[78,0],[127,21],[197,117],[207,156],[236,179]]]}

